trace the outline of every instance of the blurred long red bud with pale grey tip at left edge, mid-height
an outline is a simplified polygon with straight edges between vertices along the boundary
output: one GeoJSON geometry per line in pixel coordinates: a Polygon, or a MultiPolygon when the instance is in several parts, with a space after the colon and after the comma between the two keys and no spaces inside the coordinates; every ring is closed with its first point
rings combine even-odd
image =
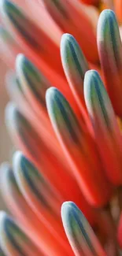
{"type": "Polygon", "coordinates": [[[46,143],[39,138],[27,119],[13,105],[6,109],[6,124],[14,143],[35,163],[47,180],[50,180],[50,183],[61,193],[63,200],[72,198],[85,212],[89,221],[94,223],[96,220],[94,210],[87,204],[62,154],[59,152],[60,158],[57,158],[54,152],[49,150],[48,145],[46,146],[46,143]]]}

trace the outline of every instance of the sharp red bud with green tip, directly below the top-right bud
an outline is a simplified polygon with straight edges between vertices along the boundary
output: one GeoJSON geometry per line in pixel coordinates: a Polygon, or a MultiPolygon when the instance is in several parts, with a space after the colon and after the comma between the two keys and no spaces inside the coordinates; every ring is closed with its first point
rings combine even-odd
{"type": "Polygon", "coordinates": [[[86,73],[84,96],[106,175],[113,184],[119,185],[122,183],[122,139],[109,96],[94,70],[86,73]]]}

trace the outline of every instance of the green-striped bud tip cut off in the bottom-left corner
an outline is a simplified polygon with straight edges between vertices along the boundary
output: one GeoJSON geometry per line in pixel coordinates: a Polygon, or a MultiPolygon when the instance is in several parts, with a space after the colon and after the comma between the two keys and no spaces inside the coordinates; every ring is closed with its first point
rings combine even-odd
{"type": "Polygon", "coordinates": [[[13,219],[4,212],[0,213],[0,244],[6,255],[45,255],[31,242],[13,219]]]}

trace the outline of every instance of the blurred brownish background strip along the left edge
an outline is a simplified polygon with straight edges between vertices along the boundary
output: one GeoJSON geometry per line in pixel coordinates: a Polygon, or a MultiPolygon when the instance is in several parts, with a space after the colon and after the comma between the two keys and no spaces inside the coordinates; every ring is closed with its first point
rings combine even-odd
{"type": "MultiPolygon", "coordinates": [[[[0,165],[2,161],[9,161],[10,152],[12,150],[12,143],[9,139],[8,132],[6,131],[6,124],[4,120],[4,111],[7,102],[9,101],[9,96],[6,93],[6,65],[0,60],[0,165]]],[[[2,202],[0,195],[0,210],[5,209],[5,205],[2,202]]]]}

